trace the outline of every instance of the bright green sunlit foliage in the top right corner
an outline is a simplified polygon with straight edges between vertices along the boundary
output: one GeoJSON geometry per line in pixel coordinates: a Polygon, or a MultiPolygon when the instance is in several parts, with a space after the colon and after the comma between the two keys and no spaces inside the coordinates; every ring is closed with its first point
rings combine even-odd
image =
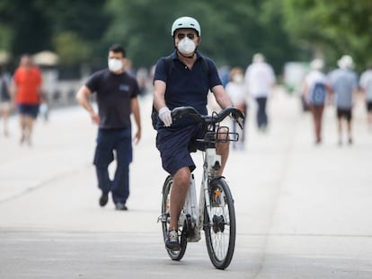
{"type": "Polygon", "coordinates": [[[285,28],[294,41],[335,65],[349,54],[361,70],[372,59],[372,2],[283,0],[285,28]],[[318,53],[316,53],[318,52],[318,53]]]}

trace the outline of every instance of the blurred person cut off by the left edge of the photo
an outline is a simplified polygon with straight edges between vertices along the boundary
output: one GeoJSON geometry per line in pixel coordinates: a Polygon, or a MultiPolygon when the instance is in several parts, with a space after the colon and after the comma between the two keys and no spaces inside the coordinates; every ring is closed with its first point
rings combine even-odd
{"type": "Polygon", "coordinates": [[[0,65],[0,116],[3,118],[3,132],[9,135],[8,118],[12,103],[11,78],[4,71],[4,65],[0,65]]]}

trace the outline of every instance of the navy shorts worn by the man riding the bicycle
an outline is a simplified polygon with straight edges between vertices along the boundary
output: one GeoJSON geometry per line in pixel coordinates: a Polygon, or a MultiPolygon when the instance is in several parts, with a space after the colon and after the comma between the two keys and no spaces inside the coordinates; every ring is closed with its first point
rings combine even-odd
{"type": "Polygon", "coordinates": [[[190,171],[195,170],[190,147],[202,150],[204,144],[197,142],[197,139],[202,137],[200,124],[159,129],[156,135],[156,147],[162,157],[163,169],[171,175],[184,167],[189,167],[190,171]]]}

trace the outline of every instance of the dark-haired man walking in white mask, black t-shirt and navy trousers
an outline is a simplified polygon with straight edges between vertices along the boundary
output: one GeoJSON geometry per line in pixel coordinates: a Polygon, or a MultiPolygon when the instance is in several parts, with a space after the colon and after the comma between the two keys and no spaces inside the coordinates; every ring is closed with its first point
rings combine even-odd
{"type": "Polygon", "coordinates": [[[132,161],[132,128],[130,115],[133,113],[137,125],[135,144],[141,138],[141,121],[137,95],[136,77],[128,74],[126,53],[120,44],[109,49],[108,69],[91,75],[77,92],[76,100],[89,112],[93,123],[98,125],[97,144],[93,164],[95,165],[98,187],[102,191],[99,204],[108,203],[109,193],[116,210],[128,210],[129,164],[132,161]],[[98,113],[89,99],[96,93],[98,113]],[[115,156],[114,156],[115,152],[115,156]],[[117,162],[114,178],[109,176],[109,165],[114,158],[117,162]]]}

